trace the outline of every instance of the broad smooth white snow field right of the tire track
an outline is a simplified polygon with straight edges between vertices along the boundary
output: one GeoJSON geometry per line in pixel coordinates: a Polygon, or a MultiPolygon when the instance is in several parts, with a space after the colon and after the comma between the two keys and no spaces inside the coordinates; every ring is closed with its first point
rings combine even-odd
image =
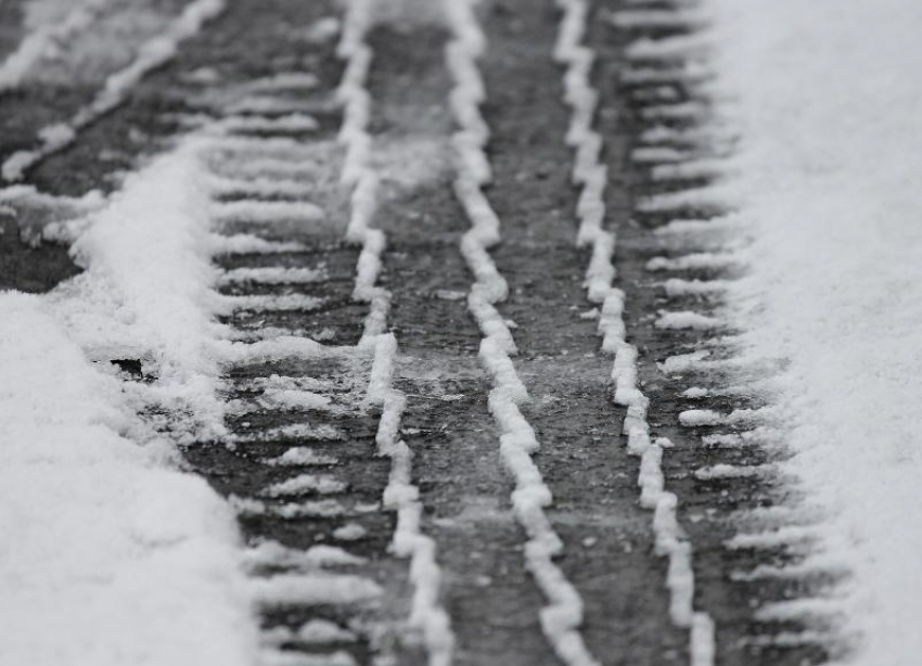
{"type": "Polygon", "coordinates": [[[709,0],[755,229],[733,290],[790,359],[787,463],[835,517],[861,666],[922,655],[922,4],[709,0]]]}

